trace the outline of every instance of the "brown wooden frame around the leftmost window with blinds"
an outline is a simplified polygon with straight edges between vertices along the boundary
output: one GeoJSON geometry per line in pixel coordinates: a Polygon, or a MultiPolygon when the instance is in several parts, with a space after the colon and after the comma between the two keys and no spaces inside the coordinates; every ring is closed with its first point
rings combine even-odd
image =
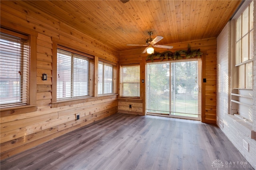
{"type": "Polygon", "coordinates": [[[1,20],[1,32],[6,34],[14,35],[15,34],[23,34],[28,36],[28,48],[29,48],[29,84],[28,84],[28,98],[26,105],[21,106],[10,106],[10,107],[0,107],[1,116],[8,116],[11,112],[12,115],[18,113],[29,113],[37,110],[36,104],[36,63],[37,63],[37,37],[38,33],[30,30],[28,28],[24,28],[22,26],[17,26],[16,24],[10,23],[6,20],[1,20]],[[10,28],[9,26],[14,27],[15,29],[10,28]]]}

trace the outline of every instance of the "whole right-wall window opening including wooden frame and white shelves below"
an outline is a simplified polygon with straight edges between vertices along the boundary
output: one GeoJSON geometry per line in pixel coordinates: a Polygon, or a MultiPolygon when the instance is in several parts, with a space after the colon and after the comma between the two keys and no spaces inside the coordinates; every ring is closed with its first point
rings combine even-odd
{"type": "Polygon", "coordinates": [[[252,121],[253,3],[245,1],[232,19],[235,46],[232,66],[231,111],[252,121]]]}

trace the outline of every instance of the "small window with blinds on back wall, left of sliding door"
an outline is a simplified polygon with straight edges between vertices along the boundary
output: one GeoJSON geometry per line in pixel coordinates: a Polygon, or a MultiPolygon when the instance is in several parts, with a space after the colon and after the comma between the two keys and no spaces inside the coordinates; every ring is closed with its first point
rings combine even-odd
{"type": "Polygon", "coordinates": [[[120,97],[140,98],[140,65],[120,66],[120,97]]]}

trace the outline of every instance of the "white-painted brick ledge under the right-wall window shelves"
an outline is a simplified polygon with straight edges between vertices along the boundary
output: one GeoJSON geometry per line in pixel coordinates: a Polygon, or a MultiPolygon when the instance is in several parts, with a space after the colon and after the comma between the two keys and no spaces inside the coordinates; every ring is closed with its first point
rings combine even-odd
{"type": "Polygon", "coordinates": [[[239,123],[239,125],[242,125],[243,131],[246,135],[248,135],[249,138],[256,140],[256,131],[253,130],[252,121],[249,121],[247,119],[244,119],[240,117],[240,115],[228,115],[231,119],[234,120],[234,122],[239,123]]]}

